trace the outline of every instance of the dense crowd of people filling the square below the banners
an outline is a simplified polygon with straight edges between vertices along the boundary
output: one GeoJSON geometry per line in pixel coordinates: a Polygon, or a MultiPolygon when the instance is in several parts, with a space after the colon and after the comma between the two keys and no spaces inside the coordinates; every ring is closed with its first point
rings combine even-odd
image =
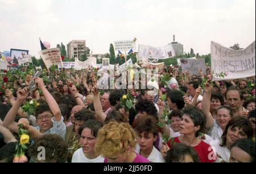
{"type": "Polygon", "coordinates": [[[1,70],[0,162],[14,161],[20,126],[31,163],[255,162],[255,76],[213,82],[207,70],[164,66],[156,85],[147,78],[146,88],[129,90],[99,89],[95,68],[35,78],[29,65],[1,70]]]}

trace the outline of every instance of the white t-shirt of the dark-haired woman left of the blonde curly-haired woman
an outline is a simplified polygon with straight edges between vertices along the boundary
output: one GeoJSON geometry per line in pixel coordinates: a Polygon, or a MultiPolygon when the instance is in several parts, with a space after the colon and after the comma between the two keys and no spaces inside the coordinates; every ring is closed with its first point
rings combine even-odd
{"type": "Polygon", "coordinates": [[[82,152],[82,148],[77,149],[72,156],[72,163],[103,163],[104,158],[100,155],[94,159],[88,159],[82,152]]]}

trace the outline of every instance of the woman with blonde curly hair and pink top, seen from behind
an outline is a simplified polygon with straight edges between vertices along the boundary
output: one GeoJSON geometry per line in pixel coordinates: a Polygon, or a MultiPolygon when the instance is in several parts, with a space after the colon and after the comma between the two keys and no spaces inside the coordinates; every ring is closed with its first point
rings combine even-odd
{"type": "Polygon", "coordinates": [[[148,163],[144,156],[134,151],[136,138],[135,131],[128,123],[112,121],[98,131],[94,151],[105,157],[105,163],[148,163]]]}

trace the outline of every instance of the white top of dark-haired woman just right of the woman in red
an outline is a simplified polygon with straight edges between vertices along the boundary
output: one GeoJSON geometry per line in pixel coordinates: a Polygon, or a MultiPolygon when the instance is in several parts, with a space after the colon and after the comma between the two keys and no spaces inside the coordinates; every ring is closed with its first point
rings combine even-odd
{"type": "Polygon", "coordinates": [[[213,147],[213,151],[218,154],[225,162],[229,162],[230,150],[224,146],[220,146],[220,140],[216,139],[210,142],[210,146],[213,147]]]}

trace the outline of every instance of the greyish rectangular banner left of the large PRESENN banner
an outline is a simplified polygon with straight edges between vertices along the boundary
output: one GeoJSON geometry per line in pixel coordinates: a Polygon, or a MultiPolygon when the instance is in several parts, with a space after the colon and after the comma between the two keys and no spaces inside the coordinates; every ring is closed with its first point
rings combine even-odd
{"type": "Polygon", "coordinates": [[[204,59],[191,59],[191,58],[180,58],[180,65],[182,69],[182,73],[185,71],[189,71],[190,74],[200,75],[199,69],[203,70],[204,74],[206,74],[205,70],[205,60],[204,59]]]}

